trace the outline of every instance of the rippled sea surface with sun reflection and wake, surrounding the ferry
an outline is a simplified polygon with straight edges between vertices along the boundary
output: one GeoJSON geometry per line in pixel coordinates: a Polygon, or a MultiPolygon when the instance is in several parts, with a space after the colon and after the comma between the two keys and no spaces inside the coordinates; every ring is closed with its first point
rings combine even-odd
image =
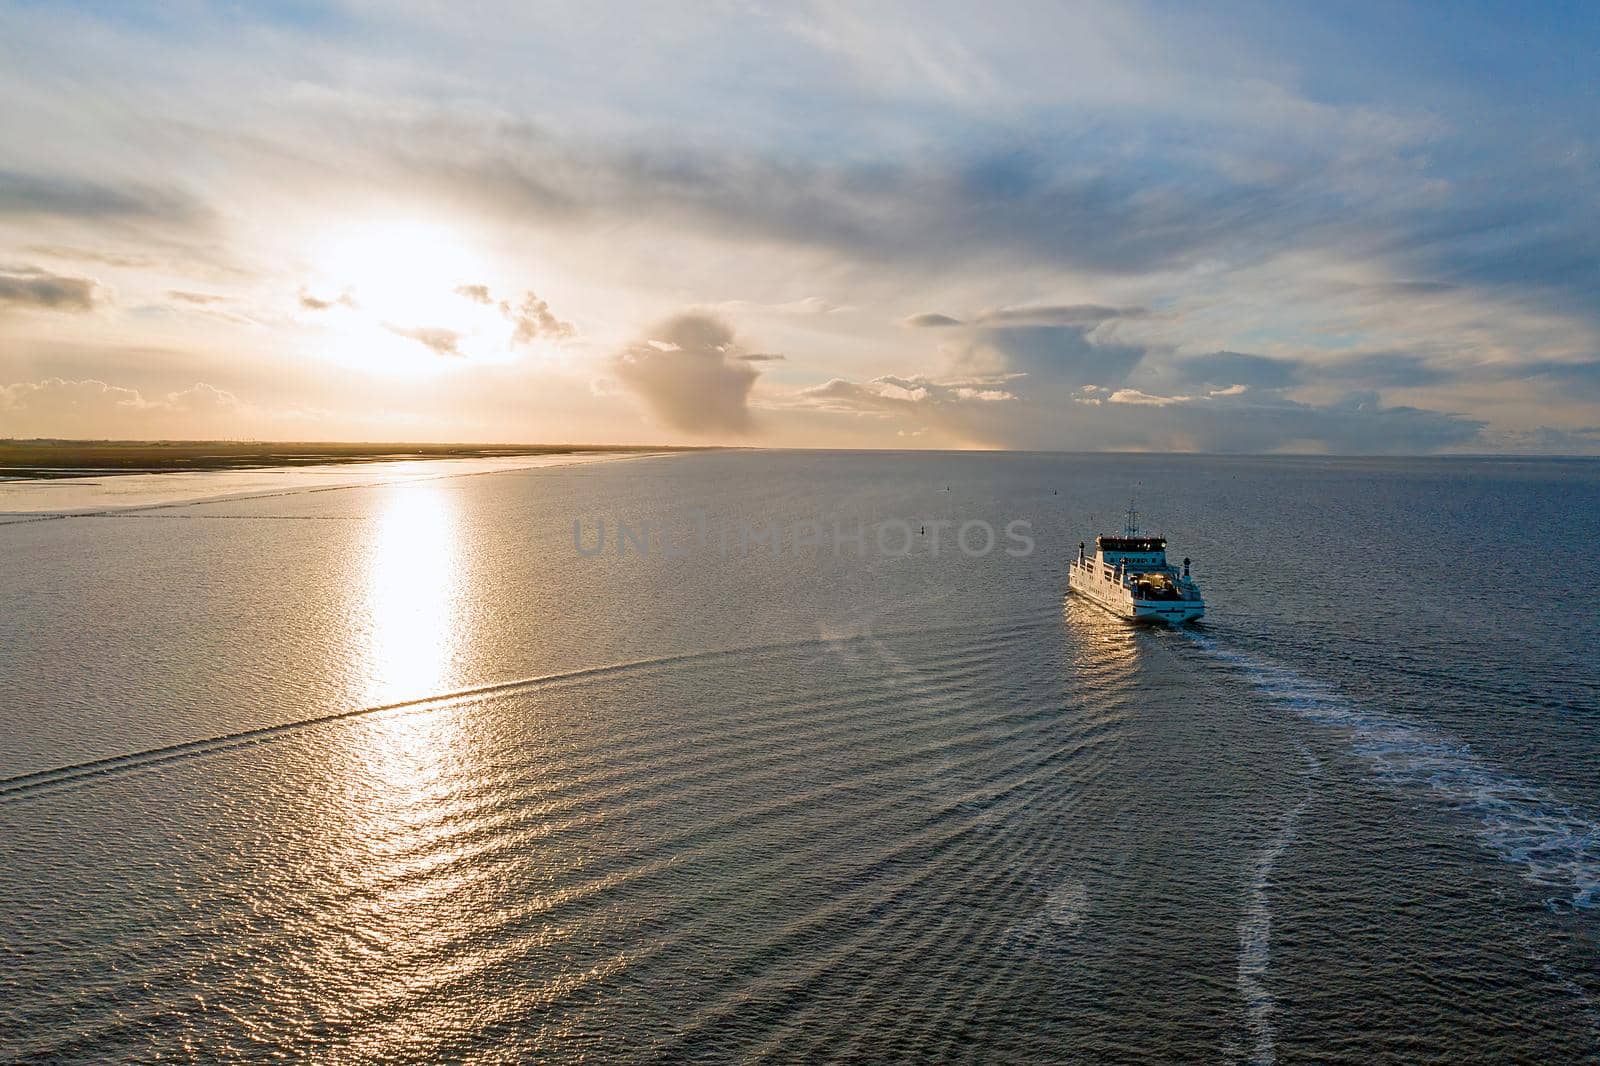
{"type": "Polygon", "coordinates": [[[5,525],[0,1060],[1595,1061],[1597,528],[1581,461],[827,453],[5,525]],[[1134,485],[1202,627],[1062,599],[1134,485]],[[893,519],[1035,551],[738,546],[893,519]]]}

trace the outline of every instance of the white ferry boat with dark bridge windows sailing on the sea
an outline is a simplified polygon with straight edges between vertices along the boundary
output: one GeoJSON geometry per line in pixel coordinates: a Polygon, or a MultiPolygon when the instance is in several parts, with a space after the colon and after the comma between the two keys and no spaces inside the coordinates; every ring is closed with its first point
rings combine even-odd
{"type": "Polygon", "coordinates": [[[1128,507],[1122,533],[1094,538],[1090,559],[1082,541],[1078,557],[1067,568],[1067,589],[1088,597],[1114,615],[1131,621],[1181,626],[1205,615],[1200,586],[1166,562],[1166,538],[1139,533],[1139,512],[1128,507]]]}

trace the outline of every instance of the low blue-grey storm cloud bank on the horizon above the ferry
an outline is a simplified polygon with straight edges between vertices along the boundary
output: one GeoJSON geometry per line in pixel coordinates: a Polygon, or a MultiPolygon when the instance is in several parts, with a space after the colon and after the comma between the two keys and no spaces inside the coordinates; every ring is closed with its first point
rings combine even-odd
{"type": "Polygon", "coordinates": [[[1469,445],[1485,426],[1382,403],[1378,387],[1451,379],[1418,355],[1365,352],[1314,362],[1224,351],[1174,362],[1098,335],[1099,323],[1130,317],[1118,309],[1051,311],[1027,317],[1082,325],[971,327],[957,359],[984,368],[984,378],[835,378],[802,395],[824,410],[878,415],[910,432],[1003,448],[1427,453],[1469,445]],[[1350,391],[1334,403],[1285,395],[1306,384],[1350,391]]]}

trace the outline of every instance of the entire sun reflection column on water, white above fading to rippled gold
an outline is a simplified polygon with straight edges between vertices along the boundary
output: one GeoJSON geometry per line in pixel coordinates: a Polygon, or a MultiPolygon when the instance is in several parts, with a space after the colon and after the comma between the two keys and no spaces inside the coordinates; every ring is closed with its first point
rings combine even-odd
{"type": "MultiPolygon", "coordinates": [[[[477,763],[459,703],[464,565],[458,501],[445,482],[387,485],[366,549],[365,703],[421,701],[341,722],[330,744],[325,848],[344,887],[336,919],[304,943],[328,989],[322,1008],[392,1024],[366,1028],[355,1058],[426,1047],[445,1018],[426,1004],[475,954],[461,944],[480,896],[461,869],[461,820],[474,808],[462,773],[477,763]],[[442,962],[453,960],[453,962],[442,962]],[[421,1005],[421,1007],[419,1007],[421,1005]]],[[[418,1055],[413,1055],[418,1056],[418,1055]]]]}

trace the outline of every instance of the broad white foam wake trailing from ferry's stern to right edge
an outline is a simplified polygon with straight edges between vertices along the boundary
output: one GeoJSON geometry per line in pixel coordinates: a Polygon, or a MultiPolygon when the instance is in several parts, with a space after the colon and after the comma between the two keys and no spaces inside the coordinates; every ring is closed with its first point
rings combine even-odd
{"type": "Polygon", "coordinates": [[[1546,898],[1550,909],[1600,904],[1600,823],[1549,789],[1506,773],[1446,733],[1358,707],[1294,671],[1221,648],[1198,634],[1190,637],[1280,706],[1344,731],[1381,779],[1426,787],[1469,816],[1485,848],[1520,866],[1526,880],[1554,890],[1546,898]]]}

